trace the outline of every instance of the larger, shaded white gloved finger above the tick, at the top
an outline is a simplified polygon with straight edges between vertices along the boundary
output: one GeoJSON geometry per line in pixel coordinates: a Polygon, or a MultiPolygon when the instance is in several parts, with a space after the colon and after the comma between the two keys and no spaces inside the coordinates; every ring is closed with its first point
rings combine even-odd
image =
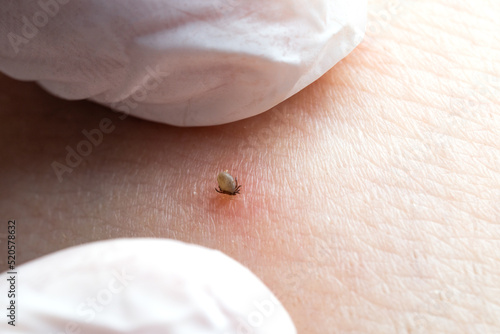
{"type": "Polygon", "coordinates": [[[0,71],[179,126],[275,106],[361,41],[366,0],[16,0],[0,71]]]}

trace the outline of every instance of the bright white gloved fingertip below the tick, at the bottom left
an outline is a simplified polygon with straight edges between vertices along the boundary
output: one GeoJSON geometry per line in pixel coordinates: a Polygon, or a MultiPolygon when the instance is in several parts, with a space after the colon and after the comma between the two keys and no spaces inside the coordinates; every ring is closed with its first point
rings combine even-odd
{"type": "MultiPolygon", "coordinates": [[[[292,334],[289,315],[221,252],[167,239],[72,247],[17,269],[17,320],[2,334],[292,334]]],[[[0,291],[5,314],[7,279],[0,291]]]]}

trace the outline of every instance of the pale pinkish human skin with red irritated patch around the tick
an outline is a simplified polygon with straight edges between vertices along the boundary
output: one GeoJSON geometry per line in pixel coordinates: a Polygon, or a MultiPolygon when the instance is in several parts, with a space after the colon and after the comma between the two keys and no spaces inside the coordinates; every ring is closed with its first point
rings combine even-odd
{"type": "Polygon", "coordinates": [[[498,333],[500,2],[369,11],[364,42],[320,80],[223,126],[121,120],[0,76],[18,263],[173,238],[248,266],[299,333],[498,333]],[[114,130],[59,182],[51,163],[103,118],[114,130]],[[214,191],[226,169],[241,195],[214,191]]]}

